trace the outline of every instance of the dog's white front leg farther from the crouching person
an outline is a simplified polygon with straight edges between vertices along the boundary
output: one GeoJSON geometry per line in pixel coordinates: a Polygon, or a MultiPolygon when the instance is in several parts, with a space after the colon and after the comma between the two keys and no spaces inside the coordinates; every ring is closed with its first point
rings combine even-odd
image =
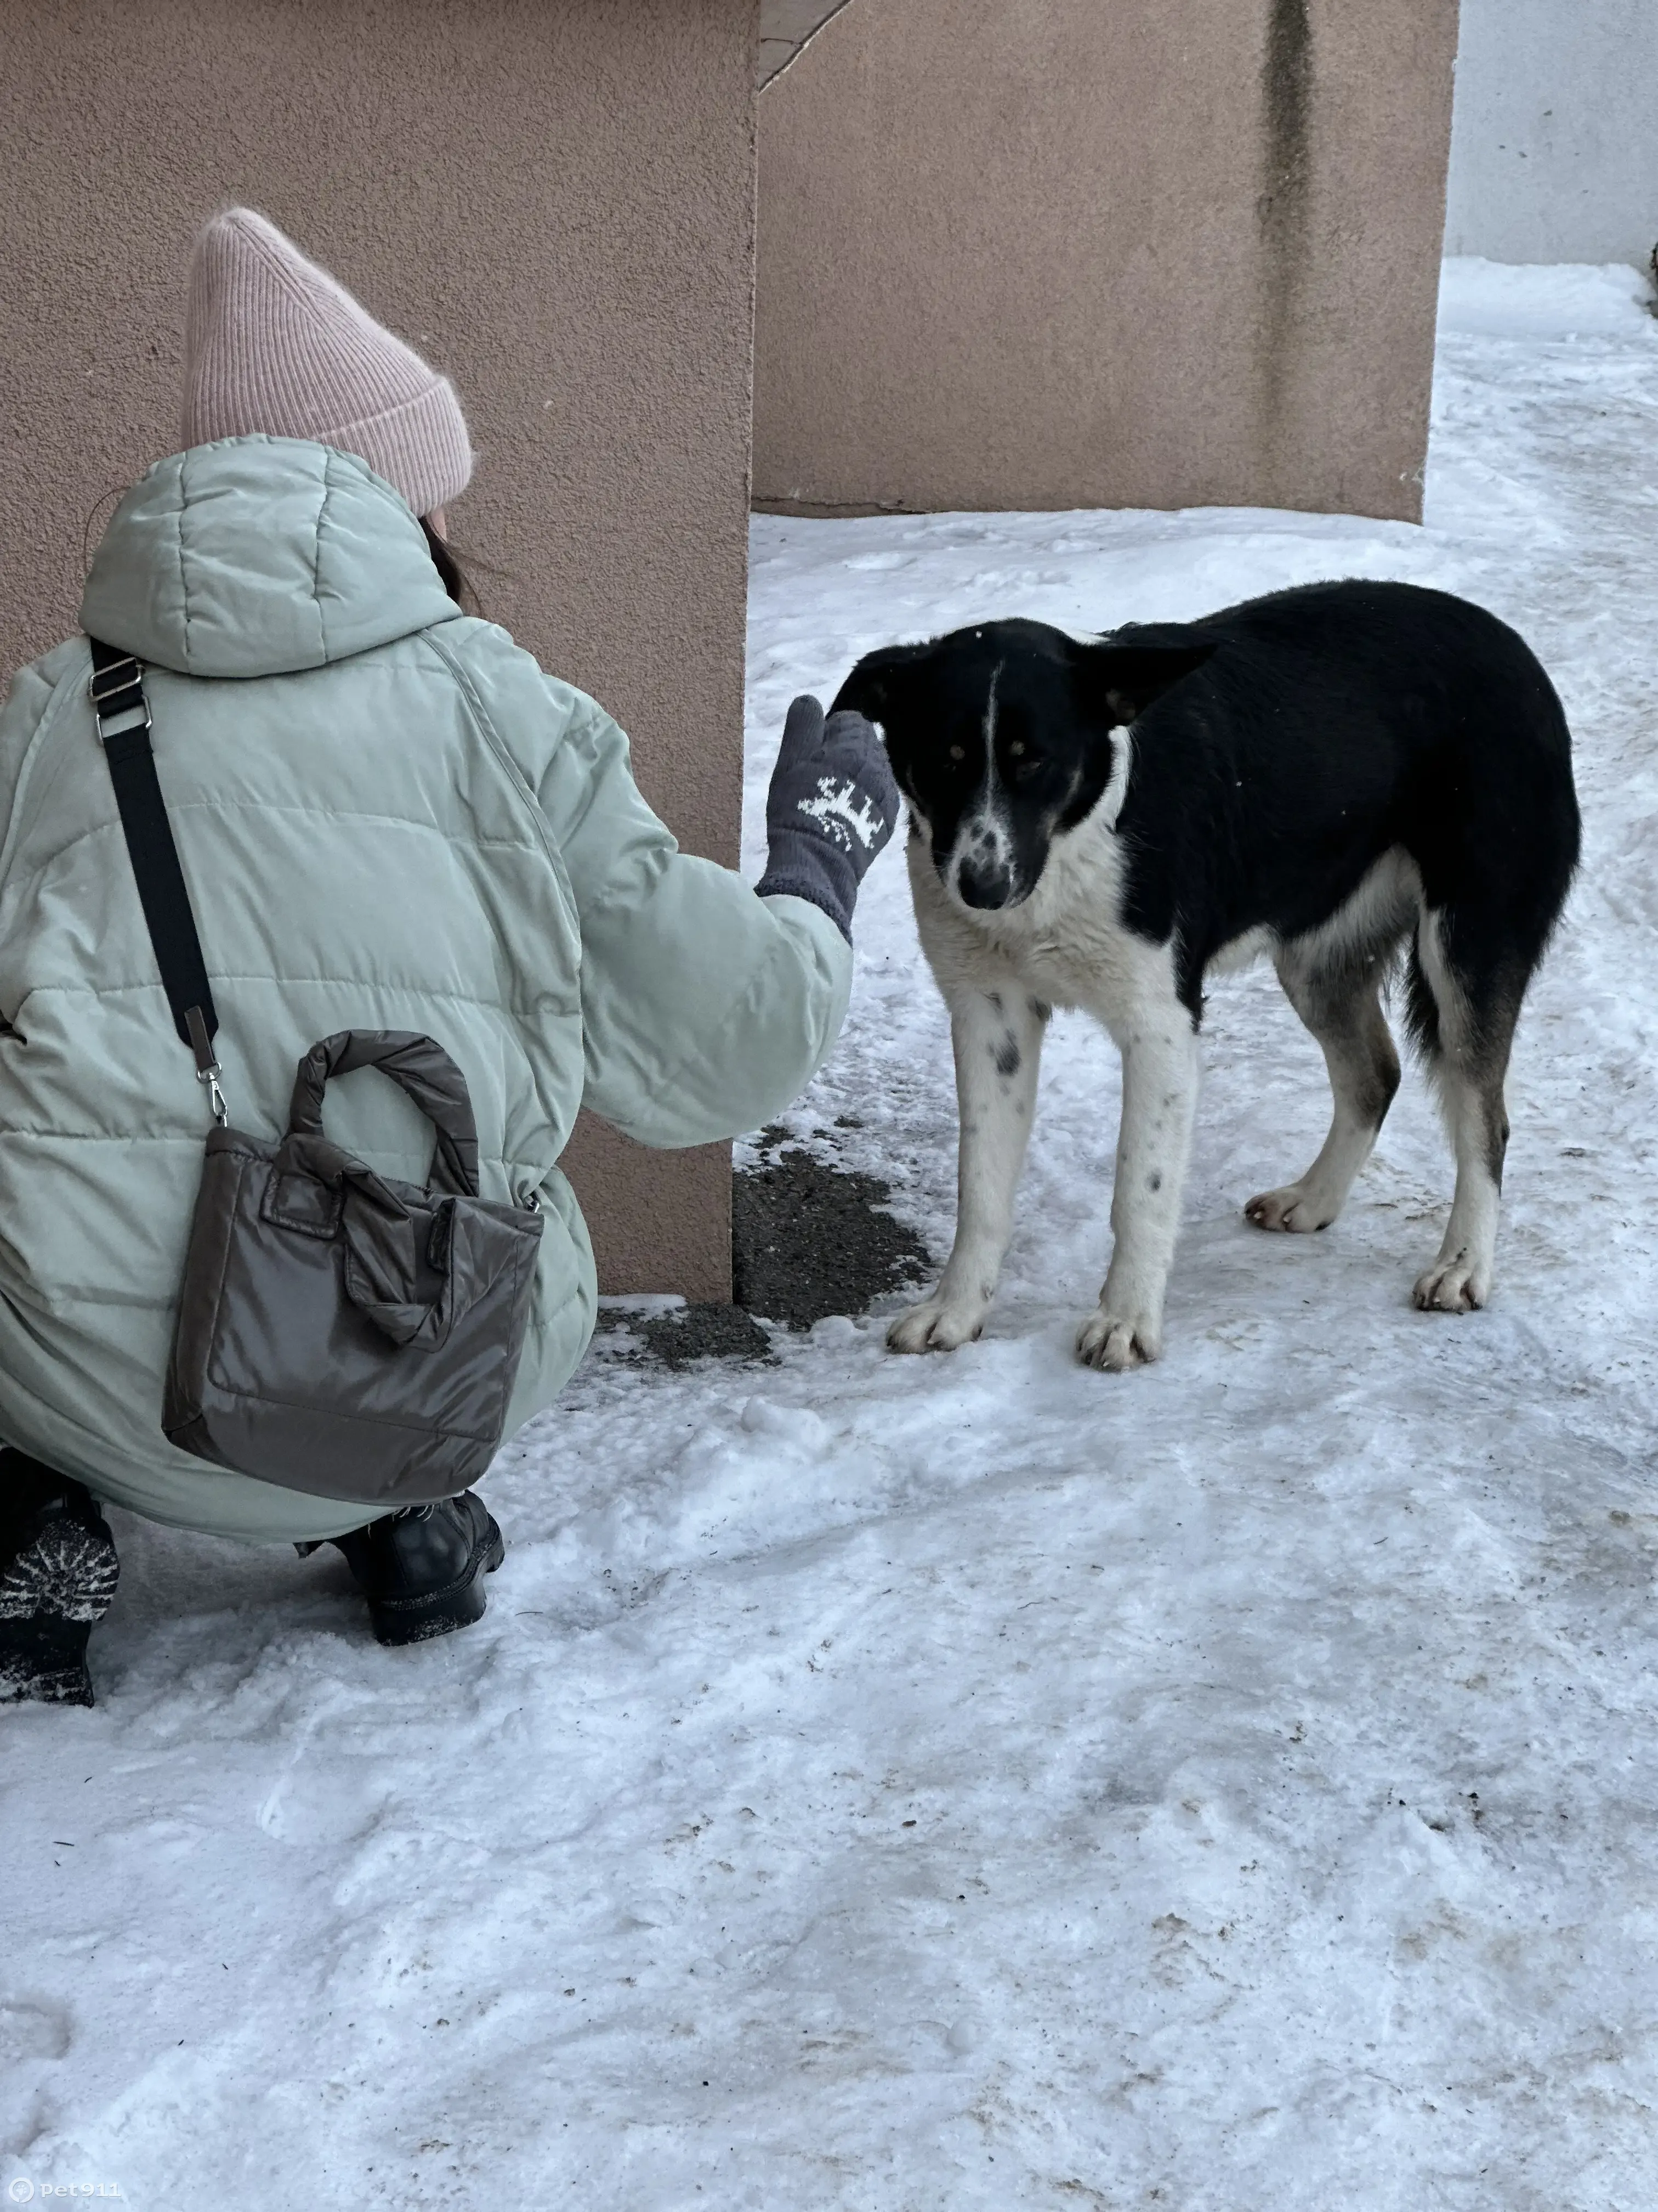
{"type": "Polygon", "coordinates": [[[1114,1374],[1163,1349],[1163,1292],[1180,1232],[1180,1192],[1198,1104],[1198,1040],[1183,1006],[1119,1035],[1123,1126],[1112,1186],[1112,1265],[1077,1358],[1114,1374]]]}

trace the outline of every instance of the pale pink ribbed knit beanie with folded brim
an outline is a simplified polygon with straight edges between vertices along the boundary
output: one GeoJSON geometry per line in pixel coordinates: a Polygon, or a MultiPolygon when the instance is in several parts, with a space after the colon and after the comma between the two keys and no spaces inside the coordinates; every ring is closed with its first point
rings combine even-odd
{"type": "Polygon", "coordinates": [[[358,453],[418,515],[473,473],[447,376],[252,208],[201,230],[183,323],[183,442],[314,438],[358,453]]]}

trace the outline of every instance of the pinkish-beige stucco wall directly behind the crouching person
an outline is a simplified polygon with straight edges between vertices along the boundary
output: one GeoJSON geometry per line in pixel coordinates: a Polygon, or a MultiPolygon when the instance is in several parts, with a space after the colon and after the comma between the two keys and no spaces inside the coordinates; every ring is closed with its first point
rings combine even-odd
{"type": "MultiPolygon", "coordinates": [[[[177,447],[190,234],[241,199],[453,376],[486,611],[734,863],[756,35],[756,0],[0,0],[0,681],[177,447]]],[[[584,1126],[570,1166],[606,1287],[730,1294],[723,1146],[584,1126]]]]}

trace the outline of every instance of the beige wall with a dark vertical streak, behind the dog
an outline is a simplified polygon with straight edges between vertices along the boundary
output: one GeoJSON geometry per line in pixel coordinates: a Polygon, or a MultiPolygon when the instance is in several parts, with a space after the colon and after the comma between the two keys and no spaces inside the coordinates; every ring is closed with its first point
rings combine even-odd
{"type": "Polygon", "coordinates": [[[851,0],[760,95],[756,502],[1415,518],[1457,0],[851,0]]]}

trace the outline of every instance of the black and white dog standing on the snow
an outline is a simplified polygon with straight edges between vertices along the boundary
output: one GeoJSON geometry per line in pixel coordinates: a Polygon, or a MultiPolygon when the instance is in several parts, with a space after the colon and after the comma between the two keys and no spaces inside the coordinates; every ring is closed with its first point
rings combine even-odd
{"type": "Polygon", "coordinates": [[[922,947],[951,1009],[962,1117],[955,1248],[898,1352],[977,1336],[1052,1006],[1123,1053],[1112,1265],[1077,1336],[1154,1360],[1198,1093],[1205,975],[1269,956],[1335,1093],[1324,1148],[1245,1208],[1322,1230],[1399,1084],[1406,1024],[1457,1150],[1424,1310],[1490,1296],[1503,1075],[1578,858],[1572,739],[1530,648],[1410,584],[1309,584],[1192,624],[1074,639],[988,622],[889,646],[836,699],[880,723],[911,805],[922,947]]]}

